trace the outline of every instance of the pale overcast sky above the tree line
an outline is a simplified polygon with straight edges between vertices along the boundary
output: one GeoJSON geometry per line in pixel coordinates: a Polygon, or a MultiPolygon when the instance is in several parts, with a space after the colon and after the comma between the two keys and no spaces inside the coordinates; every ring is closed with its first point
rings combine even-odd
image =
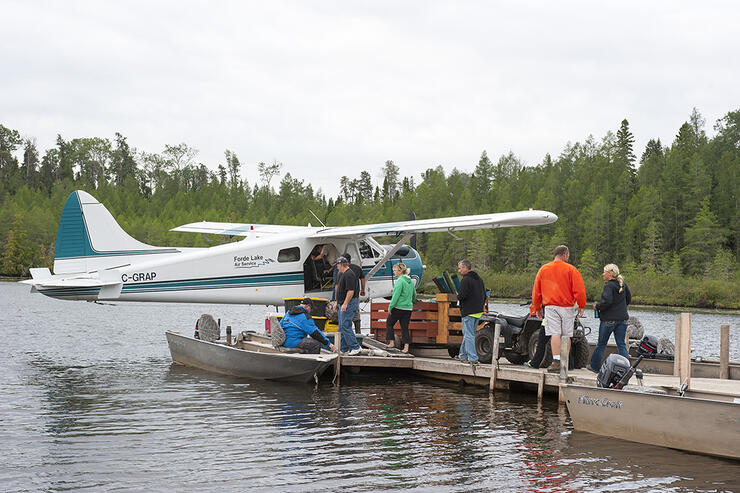
{"type": "MultiPolygon", "coordinates": [[[[392,159],[536,165],[627,118],[639,157],[740,109],[737,2],[0,0],[0,124],[277,160],[335,195],[392,159]]],[[[277,180],[273,181],[273,184],[277,180]]]]}

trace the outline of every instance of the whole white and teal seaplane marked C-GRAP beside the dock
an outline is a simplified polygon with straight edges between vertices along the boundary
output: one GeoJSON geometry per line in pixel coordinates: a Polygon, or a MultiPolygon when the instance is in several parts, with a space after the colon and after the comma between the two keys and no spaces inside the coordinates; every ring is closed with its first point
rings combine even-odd
{"type": "Polygon", "coordinates": [[[393,264],[404,262],[416,286],[424,271],[418,252],[405,243],[414,233],[537,226],[557,220],[526,210],[360,226],[316,227],[196,222],[171,231],[242,236],[208,248],[147,245],[129,236],[108,209],[87,192],[67,198],[59,220],[54,274],[31,269],[32,292],[64,300],[158,301],[281,305],[283,298],[331,296],[312,258],[331,244],[360,264],[367,280],[363,300],[390,296],[393,264]],[[374,237],[396,236],[393,245],[374,237]]]}

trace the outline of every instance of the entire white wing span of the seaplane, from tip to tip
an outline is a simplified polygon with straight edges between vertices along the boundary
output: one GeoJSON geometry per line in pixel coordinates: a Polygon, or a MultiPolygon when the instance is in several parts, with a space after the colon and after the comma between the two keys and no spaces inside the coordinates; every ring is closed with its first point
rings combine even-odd
{"type": "Polygon", "coordinates": [[[189,233],[211,233],[229,236],[261,236],[271,234],[300,233],[308,237],[363,237],[398,235],[401,233],[434,233],[439,231],[463,231],[467,229],[506,228],[510,226],[539,226],[557,221],[552,212],[527,210],[499,212],[477,216],[417,219],[393,223],[364,224],[360,226],[312,227],[283,226],[278,224],[217,223],[202,221],[172,228],[170,231],[189,233]]]}

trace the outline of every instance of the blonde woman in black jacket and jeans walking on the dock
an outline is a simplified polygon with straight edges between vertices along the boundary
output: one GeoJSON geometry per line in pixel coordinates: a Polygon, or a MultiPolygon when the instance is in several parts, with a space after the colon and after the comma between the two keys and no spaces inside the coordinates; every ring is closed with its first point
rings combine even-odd
{"type": "Polygon", "coordinates": [[[609,342],[609,336],[614,333],[614,339],[617,342],[619,354],[629,358],[625,337],[627,335],[627,322],[629,313],[627,305],[632,301],[630,288],[624,282],[624,278],[619,274],[619,267],[615,264],[604,266],[604,290],[601,292],[601,300],[594,303],[594,308],[598,310],[598,316],[601,320],[599,323],[599,342],[596,344],[591,355],[591,362],[588,369],[598,373],[601,368],[601,358],[604,356],[606,343],[609,342]]]}

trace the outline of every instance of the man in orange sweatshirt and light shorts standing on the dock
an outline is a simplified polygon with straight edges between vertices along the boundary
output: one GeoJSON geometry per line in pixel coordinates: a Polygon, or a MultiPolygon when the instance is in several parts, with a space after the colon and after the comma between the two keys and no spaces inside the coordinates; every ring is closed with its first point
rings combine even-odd
{"type": "Polygon", "coordinates": [[[570,250],[565,245],[555,247],[555,259],[540,267],[532,286],[530,312],[545,319],[545,334],[550,337],[552,364],[549,372],[560,371],[560,338],[573,336],[576,316],[583,316],[586,307],[586,287],[578,269],[568,263],[570,250]]]}

